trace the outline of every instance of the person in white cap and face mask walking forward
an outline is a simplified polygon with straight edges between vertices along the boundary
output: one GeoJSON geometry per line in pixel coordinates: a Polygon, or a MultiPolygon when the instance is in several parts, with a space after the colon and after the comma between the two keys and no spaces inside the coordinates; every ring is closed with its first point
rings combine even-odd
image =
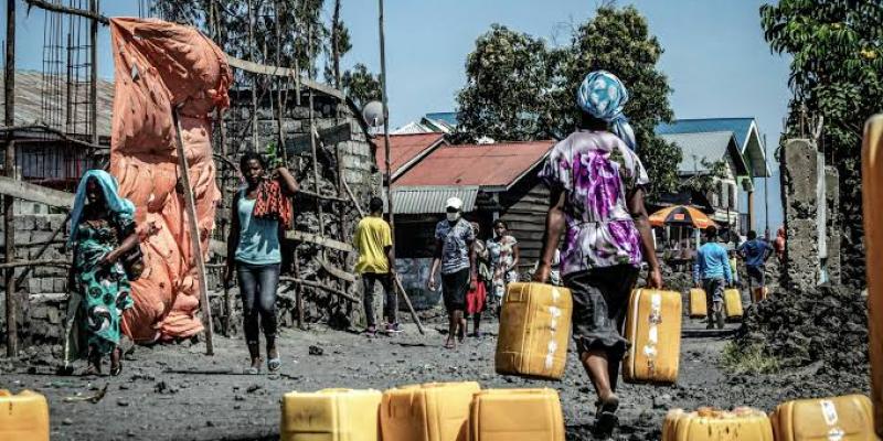
{"type": "Polygon", "coordinates": [[[442,295],[448,311],[448,340],[445,347],[455,347],[454,336],[462,343],[466,336],[466,293],[478,283],[476,272],[476,251],[472,243],[476,233],[462,218],[462,201],[451,197],[445,203],[447,218],[435,227],[435,258],[429,271],[429,289],[438,284],[435,273],[442,267],[442,295]]]}

